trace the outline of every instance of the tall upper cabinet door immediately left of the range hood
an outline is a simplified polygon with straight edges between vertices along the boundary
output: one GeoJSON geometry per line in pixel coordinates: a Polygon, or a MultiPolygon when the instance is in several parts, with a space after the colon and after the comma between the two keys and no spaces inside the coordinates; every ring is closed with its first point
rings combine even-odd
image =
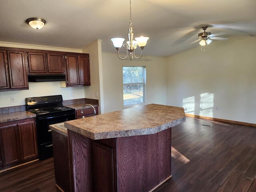
{"type": "Polygon", "coordinates": [[[10,72],[10,88],[28,89],[25,54],[22,51],[7,51],[10,72]]]}

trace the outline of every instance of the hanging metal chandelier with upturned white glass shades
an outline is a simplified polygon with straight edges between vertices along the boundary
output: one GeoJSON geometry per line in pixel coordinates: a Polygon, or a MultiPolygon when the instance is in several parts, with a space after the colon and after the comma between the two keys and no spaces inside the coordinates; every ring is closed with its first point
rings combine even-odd
{"type": "Polygon", "coordinates": [[[130,0],[130,27],[129,27],[129,33],[128,33],[128,39],[129,41],[127,41],[124,45],[123,45],[123,42],[124,42],[124,38],[112,38],[112,42],[114,44],[114,47],[116,48],[117,50],[117,54],[118,54],[118,57],[120,59],[126,59],[127,56],[128,56],[128,51],[130,52],[130,60],[133,59],[133,57],[135,57],[136,59],[140,59],[142,57],[142,50],[144,49],[144,47],[146,46],[147,44],[147,41],[148,41],[148,37],[137,37],[135,38],[136,41],[133,40],[133,36],[134,34],[132,33],[133,31],[133,28],[132,28],[132,6],[131,6],[132,2],[130,0]],[[122,46],[126,46],[126,56],[124,58],[121,58],[120,55],[119,55],[119,50],[122,46]],[[140,47],[141,49],[141,56],[140,57],[136,57],[135,54],[134,54],[134,50],[137,48],[137,47],[140,47]]]}

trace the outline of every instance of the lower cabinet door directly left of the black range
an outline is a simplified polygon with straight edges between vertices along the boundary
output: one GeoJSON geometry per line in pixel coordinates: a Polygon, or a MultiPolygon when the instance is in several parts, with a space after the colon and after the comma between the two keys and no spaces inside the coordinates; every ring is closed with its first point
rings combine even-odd
{"type": "Polygon", "coordinates": [[[20,134],[21,158],[27,160],[38,156],[35,122],[18,124],[20,134]]]}

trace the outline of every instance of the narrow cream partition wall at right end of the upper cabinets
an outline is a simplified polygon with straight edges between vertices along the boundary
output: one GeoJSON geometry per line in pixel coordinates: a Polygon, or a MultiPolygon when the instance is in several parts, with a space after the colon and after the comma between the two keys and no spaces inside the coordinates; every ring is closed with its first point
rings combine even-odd
{"type": "MultiPolygon", "coordinates": [[[[82,49],[83,53],[89,53],[90,55],[90,79],[91,86],[84,87],[86,98],[99,100],[99,114],[104,113],[104,106],[102,105],[101,92],[100,92],[100,68],[102,65],[102,52],[101,52],[102,40],[95,40],[86,48],[82,49]],[[96,96],[95,92],[98,92],[96,96]]],[[[103,95],[103,93],[102,93],[103,95]]]]}

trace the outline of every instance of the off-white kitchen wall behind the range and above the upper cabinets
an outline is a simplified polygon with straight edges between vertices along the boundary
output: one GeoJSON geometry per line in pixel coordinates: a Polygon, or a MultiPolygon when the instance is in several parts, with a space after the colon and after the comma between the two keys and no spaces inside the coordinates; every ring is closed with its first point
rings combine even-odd
{"type": "MultiPolygon", "coordinates": [[[[40,49],[40,50],[55,50],[65,52],[82,52],[79,49],[68,49],[59,47],[18,44],[9,42],[0,42],[0,46],[4,47],[16,47],[16,48],[28,48],[28,49],[40,49]]],[[[7,106],[24,105],[26,97],[34,96],[48,96],[62,94],[64,100],[84,98],[84,87],[69,87],[61,88],[60,82],[29,82],[29,90],[20,91],[4,91],[0,92],[0,108],[7,106]],[[16,102],[11,103],[10,96],[14,96],[16,102]]]]}

